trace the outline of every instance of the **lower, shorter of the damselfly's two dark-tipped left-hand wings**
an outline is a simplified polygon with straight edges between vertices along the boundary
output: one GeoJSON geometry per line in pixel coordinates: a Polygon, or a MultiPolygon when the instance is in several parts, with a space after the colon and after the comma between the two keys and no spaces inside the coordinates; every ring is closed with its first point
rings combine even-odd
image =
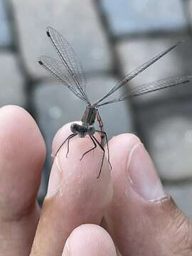
{"type": "Polygon", "coordinates": [[[41,56],[38,63],[43,66],[48,72],[50,72],[55,78],[63,82],[65,86],[67,86],[76,96],[80,97],[81,100],[85,101],[84,97],[82,97],[78,88],[74,86],[74,82],[72,81],[71,75],[65,69],[63,63],[59,60],[55,60],[54,58],[50,58],[47,56],[41,56]]]}

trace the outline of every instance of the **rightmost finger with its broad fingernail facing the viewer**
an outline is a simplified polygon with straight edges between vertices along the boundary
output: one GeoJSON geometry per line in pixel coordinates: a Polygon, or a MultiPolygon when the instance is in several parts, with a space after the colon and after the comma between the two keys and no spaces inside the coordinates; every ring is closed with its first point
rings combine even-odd
{"type": "Polygon", "coordinates": [[[105,227],[122,255],[191,255],[191,222],[166,196],[140,140],[110,142],[114,196],[105,227]]]}

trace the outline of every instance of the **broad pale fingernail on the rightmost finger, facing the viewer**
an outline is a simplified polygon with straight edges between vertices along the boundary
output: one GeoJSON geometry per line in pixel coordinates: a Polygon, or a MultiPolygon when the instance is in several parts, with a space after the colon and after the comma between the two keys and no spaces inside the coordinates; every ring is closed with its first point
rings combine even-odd
{"type": "Polygon", "coordinates": [[[129,154],[127,169],[132,188],[147,201],[164,198],[164,188],[154,164],[142,143],[136,144],[129,154]]]}

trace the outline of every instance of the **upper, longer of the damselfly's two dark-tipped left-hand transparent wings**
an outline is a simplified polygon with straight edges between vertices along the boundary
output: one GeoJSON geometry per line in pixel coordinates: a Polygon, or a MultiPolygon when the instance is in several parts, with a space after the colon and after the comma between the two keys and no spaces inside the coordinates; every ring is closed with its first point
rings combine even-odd
{"type": "Polygon", "coordinates": [[[54,28],[48,27],[47,35],[50,38],[51,43],[53,43],[55,50],[57,50],[63,65],[65,65],[66,70],[68,70],[68,73],[71,75],[73,82],[82,94],[82,97],[85,98],[87,103],[90,103],[85,91],[85,75],[73,48],[54,28]]]}

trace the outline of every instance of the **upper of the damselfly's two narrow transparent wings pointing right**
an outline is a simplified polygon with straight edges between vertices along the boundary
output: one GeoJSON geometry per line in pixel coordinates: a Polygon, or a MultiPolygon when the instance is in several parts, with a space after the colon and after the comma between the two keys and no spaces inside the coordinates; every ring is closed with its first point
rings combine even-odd
{"type": "Polygon", "coordinates": [[[116,92],[117,90],[119,90],[120,87],[122,87],[123,85],[125,85],[127,82],[129,82],[130,80],[132,80],[133,78],[135,78],[137,75],[139,75],[140,73],[142,73],[144,70],[146,70],[146,68],[149,68],[150,65],[154,64],[157,60],[159,60],[160,58],[162,58],[164,55],[166,55],[167,53],[169,53],[171,50],[173,50],[174,48],[176,48],[176,46],[178,46],[178,44],[180,44],[181,42],[176,43],[176,45],[171,46],[170,48],[164,50],[163,52],[159,53],[158,55],[156,55],[154,58],[151,58],[150,60],[146,61],[146,63],[142,64],[141,66],[139,66],[139,68],[136,68],[135,70],[133,70],[131,73],[129,73],[128,75],[126,75],[121,81],[119,81],[117,83],[117,85],[115,85],[114,87],[112,87],[112,89],[110,90],[110,92],[108,92],[104,97],[102,97],[102,99],[100,99],[98,102],[95,103],[95,105],[98,105],[98,103],[102,102],[102,100],[105,100],[107,97],[109,97],[110,95],[112,95],[113,92],[116,92]]]}

